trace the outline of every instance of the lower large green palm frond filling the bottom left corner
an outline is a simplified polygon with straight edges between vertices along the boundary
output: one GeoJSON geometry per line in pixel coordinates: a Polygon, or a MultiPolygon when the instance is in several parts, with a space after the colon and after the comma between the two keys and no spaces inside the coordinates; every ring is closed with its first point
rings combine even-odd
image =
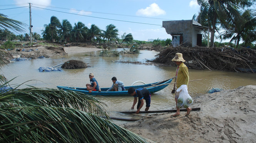
{"type": "Polygon", "coordinates": [[[0,142],[148,142],[98,115],[72,108],[0,107],[0,142]]]}

